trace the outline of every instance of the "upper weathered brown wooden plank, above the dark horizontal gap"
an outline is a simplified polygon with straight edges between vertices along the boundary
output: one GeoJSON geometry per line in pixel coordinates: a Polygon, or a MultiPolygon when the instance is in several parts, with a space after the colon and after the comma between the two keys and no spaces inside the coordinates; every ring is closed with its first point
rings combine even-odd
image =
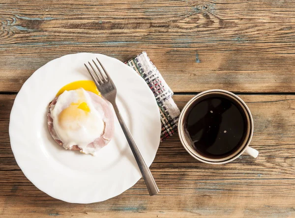
{"type": "Polygon", "coordinates": [[[295,92],[293,9],[292,1],[266,0],[7,0],[0,92],[17,92],[64,54],[126,61],[142,51],[175,92],[295,92]]]}

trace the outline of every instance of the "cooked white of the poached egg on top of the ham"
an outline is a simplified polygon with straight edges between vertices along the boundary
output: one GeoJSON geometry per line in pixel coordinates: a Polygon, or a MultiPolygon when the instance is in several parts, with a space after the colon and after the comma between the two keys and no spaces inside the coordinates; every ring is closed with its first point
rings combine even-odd
{"type": "Polygon", "coordinates": [[[87,91],[83,88],[64,91],[51,111],[53,126],[65,149],[78,145],[81,152],[93,154],[94,148],[87,147],[104,133],[104,112],[95,107],[87,91]],[[89,111],[77,108],[86,103],[89,111]],[[70,114],[65,114],[66,112],[70,114]],[[62,117],[61,117],[62,116],[62,117]]]}

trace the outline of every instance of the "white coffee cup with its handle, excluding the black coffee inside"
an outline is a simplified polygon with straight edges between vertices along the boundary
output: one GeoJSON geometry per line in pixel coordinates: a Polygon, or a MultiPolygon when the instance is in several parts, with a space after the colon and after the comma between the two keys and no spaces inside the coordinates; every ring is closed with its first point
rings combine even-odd
{"type": "Polygon", "coordinates": [[[225,164],[231,161],[234,161],[236,158],[238,158],[241,154],[246,152],[248,155],[252,156],[253,158],[257,158],[258,156],[258,151],[255,150],[254,148],[249,147],[249,144],[251,142],[252,136],[253,136],[253,118],[252,114],[250,112],[250,109],[247,107],[245,102],[236,96],[234,93],[221,90],[221,89],[212,89],[212,90],[207,90],[204,92],[201,92],[200,94],[196,95],[193,97],[182,109],[180,115],[179,115],[179,120],[178,120],[178,135],[180,138],[180,141],[183,145],[183,147],[186,149],[186,151],[193,156],[195,159],[207,163],[207,164],[225,164]],[[243,142],[240,144],[239,148],[232,154],[230,154],[227,157],[222,157],[222,158],[208,158],[200,153],[198,153],[194,147],[193,147],[193,142],[190,139],[190,136],[188,135],[187,131],[185,130],[185,122],[186,118],[188,116],[188,113],[190,109],[198,102],[201,98],[204,98],[205,96],[209,95],[221,95],[225,96],[227,98],[230,98],[232,101],[235,101],[240,108],[243,110],[244,115],[246,117],[246,122],[247,122],[247,128],[246,128],[246,137],[243,140],[243,142]]]}

